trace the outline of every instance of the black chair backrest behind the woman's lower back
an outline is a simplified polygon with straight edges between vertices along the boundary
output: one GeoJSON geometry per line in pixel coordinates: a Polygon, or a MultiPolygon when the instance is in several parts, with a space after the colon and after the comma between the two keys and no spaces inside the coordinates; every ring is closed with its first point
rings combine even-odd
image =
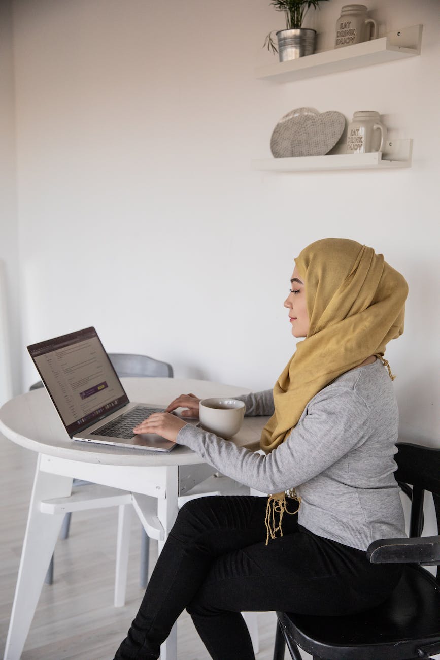
{"type": "MultiPolygon", "coordinates": [[[[410,537],[422,534],[425,490],[432,493],[437,534],[440,534],[440,449],[421,447],[408,442],[398,442],[397,448],[397,471],[394,476],[401,486],[412,486],[410,537]]],[[[406,488],[404,490],[407,492],[406,488]]],[[[437,568],[437,580],[440,581],[440,566],[437,568]]]]}

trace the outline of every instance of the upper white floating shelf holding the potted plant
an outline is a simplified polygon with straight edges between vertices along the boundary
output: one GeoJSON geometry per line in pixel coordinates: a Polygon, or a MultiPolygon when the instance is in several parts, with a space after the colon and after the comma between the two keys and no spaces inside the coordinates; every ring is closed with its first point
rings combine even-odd
{"type": "Polygon", "coordinates": [[[386,36],[361,44],[322,51],[287,62],[259,67],[257,78],[272,82],[292,82],[329,73],[349,71],[372,64],[420,55],[422,25],[389,32],[386,36]]]}

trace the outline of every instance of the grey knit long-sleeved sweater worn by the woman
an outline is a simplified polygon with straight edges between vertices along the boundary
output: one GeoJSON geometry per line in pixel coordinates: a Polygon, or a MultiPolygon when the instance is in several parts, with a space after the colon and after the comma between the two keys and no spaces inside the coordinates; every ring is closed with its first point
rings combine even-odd
{"type": "MultiPolygon", "coordinates": [[[[248,415],[274,412],[272,391],[236,397],[248,415]]],[[[296,488],[298,522],[313,533],[366,550],[376,539],[405,535],[393,455],[398,410],[380,360],[354,369],[322,389],[305,407],[288,439],[261,455],[184,426],[179,444],[191,447],[228,477],[257,490],[296,488]]]]}

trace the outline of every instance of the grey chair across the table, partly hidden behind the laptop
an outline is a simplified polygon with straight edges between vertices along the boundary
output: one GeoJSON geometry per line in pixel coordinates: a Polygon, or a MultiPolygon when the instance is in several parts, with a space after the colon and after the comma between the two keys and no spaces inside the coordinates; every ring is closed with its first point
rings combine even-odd
{"type": "MultiPolygon", "coordinates": [[[[135,355],[131,353],[109,353],[108,356],[119,378],[130,376],[142,378],[157,378],[162,376],[162,378],[173,378],[173,368],[171,364],[168,364],[168,362],[155,360],[154,358],[150,358],[147,355],[135,355]]],[[[34,383],[34,385],[31,385],[29,389],[40,389],[40,387],[44,387],[42,381],[34,383]]],[[[75,488],[79,486],[85,486],[88,483],[88,481],[82,481],[80,479],[73,480],[73,486],[75,486],[75,488]]],[[[71,513],[66,513],[63,520],[63,525],[61,527],[61,532],[59,534],[60,539],[67,539],[67,537],[69,537],[70,524],[71,513]]],[[[150,539],[148,539],[148,536],[143,529],[141,539],[140,582],[142,589],[145,589],[148,583],[148,554],[150,539]]],[[[44,581],[46,584],[52,584],[53,582],[53,555],[44,581]]]]}

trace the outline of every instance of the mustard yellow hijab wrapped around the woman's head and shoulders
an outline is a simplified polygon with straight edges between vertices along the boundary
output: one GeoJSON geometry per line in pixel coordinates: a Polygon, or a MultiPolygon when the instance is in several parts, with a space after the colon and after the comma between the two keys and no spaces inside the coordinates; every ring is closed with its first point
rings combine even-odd
{"type": "Polygon", "coordinates": [[[379,358],[403,332],[408,284],[372,248],[324,238],[295,259],[305,284],[309,332],[274,387],[275,413],[260,440],[272,451],[323,387],[370,355],[379,358]]]}

